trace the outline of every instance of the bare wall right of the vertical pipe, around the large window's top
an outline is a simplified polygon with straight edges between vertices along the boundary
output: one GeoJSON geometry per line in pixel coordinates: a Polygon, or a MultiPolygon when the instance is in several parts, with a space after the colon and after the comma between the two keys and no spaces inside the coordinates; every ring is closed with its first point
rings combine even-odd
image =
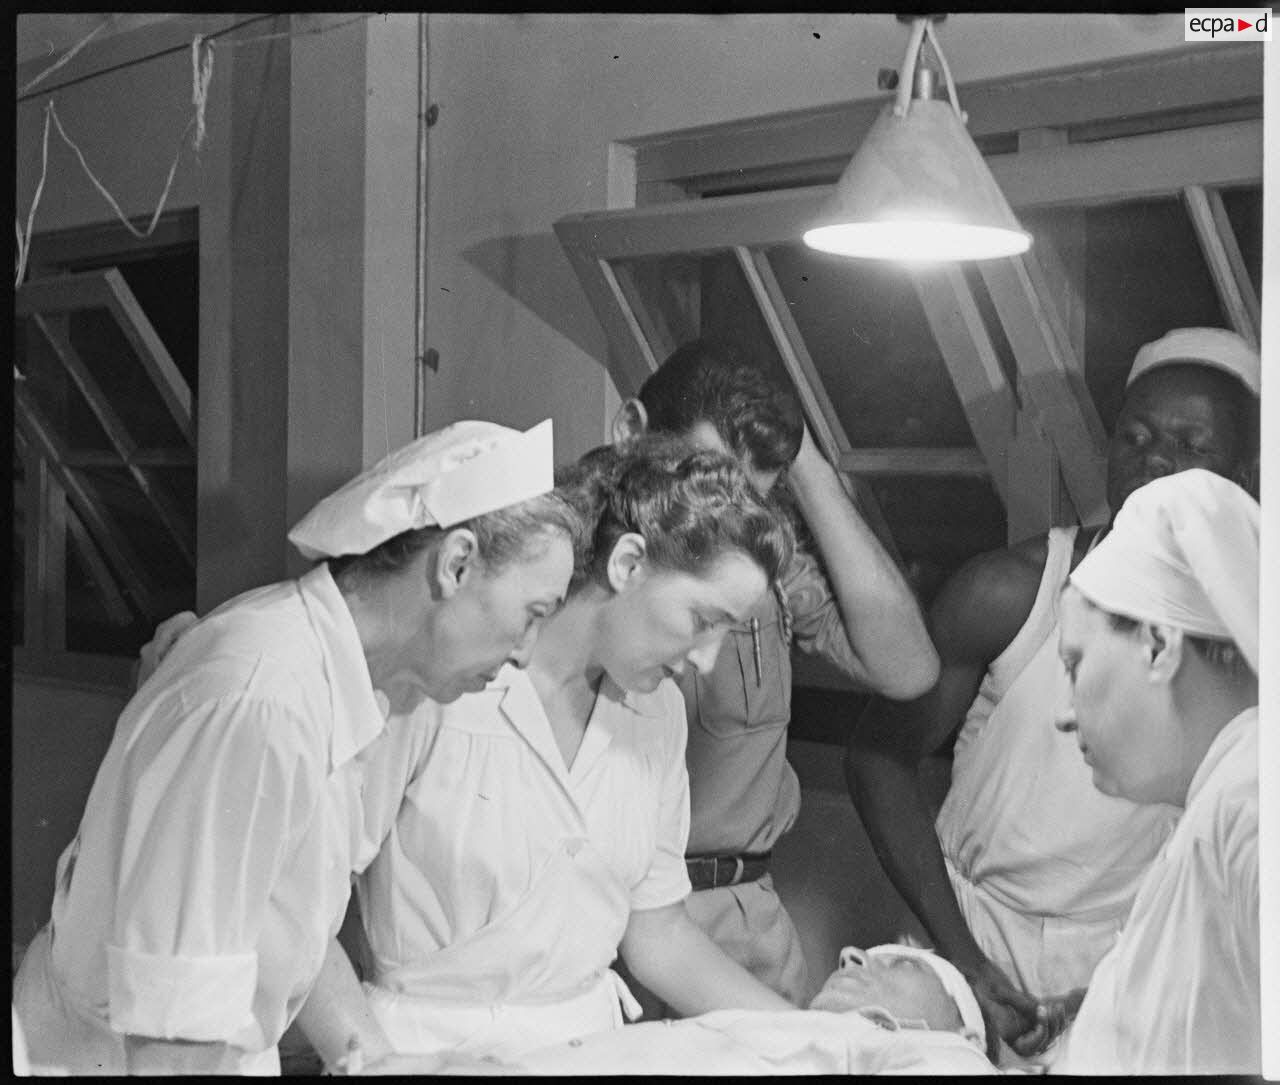
{"type": "MultiPolygon", "coordinates": [[[[604,337],[552,223],[607,206],[613,141],[877,93],[892,15],[431,14],[429,422],[548,415],[561,458],[604,439],[604,337]]],[[[951,15],[960,82],[1183,49],[1169,15],[951,15]]]]}

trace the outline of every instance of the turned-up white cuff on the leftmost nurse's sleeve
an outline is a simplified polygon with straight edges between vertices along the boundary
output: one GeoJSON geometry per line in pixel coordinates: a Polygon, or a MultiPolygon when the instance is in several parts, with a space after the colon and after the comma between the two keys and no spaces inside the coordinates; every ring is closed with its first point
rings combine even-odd
{"type": "Polygon", "coordinates": [[[227,1043],[253,1024],[257,953],[160,957],[108,946],[106,963],[116,1033],[227,1043]]]}

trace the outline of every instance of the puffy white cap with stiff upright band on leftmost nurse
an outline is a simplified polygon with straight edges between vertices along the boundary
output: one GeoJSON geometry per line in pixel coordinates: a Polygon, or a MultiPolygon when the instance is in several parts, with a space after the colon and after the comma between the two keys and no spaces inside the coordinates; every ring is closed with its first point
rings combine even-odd
{"type": "Polygon", "coordinates": [[[521,432],[463,421],[419,438],[321,500],[289,532],[311,560],[367,554],[402,531],[452,527],[548,493],[552,420],[521,432]]]}

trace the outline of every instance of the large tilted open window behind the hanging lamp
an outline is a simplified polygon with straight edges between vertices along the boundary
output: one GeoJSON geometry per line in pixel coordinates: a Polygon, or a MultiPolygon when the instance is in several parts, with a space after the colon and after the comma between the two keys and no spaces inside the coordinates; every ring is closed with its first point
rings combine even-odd
{"type": "Polygon", "coordinates": [[[785,374],[815,440],[928,599],[983,549],[1098,522],[1135,349],[1257,342],[1262,58],[1225,47],[961,88],[1034,235],[934,270],[800,242],[883,100],[643,141],[637,202],[556,232],[635,392],[713,337],[785,374]]]}

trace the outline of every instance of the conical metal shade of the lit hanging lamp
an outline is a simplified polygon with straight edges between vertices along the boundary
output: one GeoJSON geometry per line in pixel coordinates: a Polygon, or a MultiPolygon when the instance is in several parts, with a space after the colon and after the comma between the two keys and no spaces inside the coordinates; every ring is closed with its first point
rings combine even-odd
{"type": "Polygon", "coordinates": [[[1032,243],[955,107],[936,99],[914,99],[905,116],[884,107],[804,239],[904,261],[1014,256],[1032,243]]]}

